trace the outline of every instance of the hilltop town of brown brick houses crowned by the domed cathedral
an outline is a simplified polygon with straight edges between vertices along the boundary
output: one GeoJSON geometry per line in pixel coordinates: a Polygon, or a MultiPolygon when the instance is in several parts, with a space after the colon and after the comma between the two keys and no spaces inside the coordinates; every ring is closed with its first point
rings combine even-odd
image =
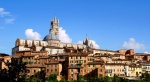
{"type": "Polygon", "coordinates": [[[27,77],[44,70],[49,77],[77,80],[79,75],[91,77],[139,78],[150,72],[150,54],[135,53],[133,49],[96,49],[88,36],[83,44],[62,43],[59,40],[59,21],[54,17],[50,22],[48,35],[43,40],[17,38],[12,55],[0,53],[0,69],[6,68],[3,61],[22,57],[28,69],[27,77]]]}

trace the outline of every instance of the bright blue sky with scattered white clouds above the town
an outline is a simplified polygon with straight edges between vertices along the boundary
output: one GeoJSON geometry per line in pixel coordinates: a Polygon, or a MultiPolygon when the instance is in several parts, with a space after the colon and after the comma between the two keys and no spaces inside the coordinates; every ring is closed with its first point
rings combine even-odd
{"type": "Polygon", "coordinates": [[[150,0],[0,0],[0,53],[17,38],[43,40],[59,19],[59,39],[95,48],[150,53],[150,0]]]}

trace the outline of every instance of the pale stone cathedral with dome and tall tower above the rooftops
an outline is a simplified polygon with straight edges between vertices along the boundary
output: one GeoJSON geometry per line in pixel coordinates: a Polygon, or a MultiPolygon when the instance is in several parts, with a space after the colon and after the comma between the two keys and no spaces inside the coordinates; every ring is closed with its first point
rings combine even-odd
{"type": "Polygon", "coordinates": [[[43,40],[27,40],[17,39],[15,47],[12,48],[12,55],[18,51],[47,51],[48,54],[65,53],[64,48],[80,49],[84,52],[88,48],[93,48],[93,44],[88,37],[83,41],[83,44],[62,43],[59,40],[59,21],[56,17],[50,22],[49,34],[43,40]]]}

